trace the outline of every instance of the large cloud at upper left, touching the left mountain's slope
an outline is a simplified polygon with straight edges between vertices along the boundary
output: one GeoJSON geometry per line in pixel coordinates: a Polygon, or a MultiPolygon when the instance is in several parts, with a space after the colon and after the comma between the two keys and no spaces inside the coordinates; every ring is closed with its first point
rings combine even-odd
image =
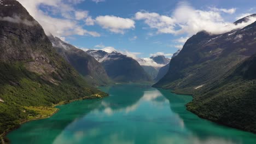
{"type": "Polygon", "coordinates": [[[18,0],[43,26],[46,34],[53,34],[56,37],[65,37],[67,35],[91,35],[99,37],[97,32],[91,32],[79,25],[77,20],[82,19],[86,14],[73,8],[74,4],[80,3],[83,0],[18,0]],[[43,6],[51,10],[52,14],[60,14],[62,17],[56,18],[48,13],[45,13],[39,7],[43,6]],[[74,20],[77,19],[77,20],[74,20]]]}

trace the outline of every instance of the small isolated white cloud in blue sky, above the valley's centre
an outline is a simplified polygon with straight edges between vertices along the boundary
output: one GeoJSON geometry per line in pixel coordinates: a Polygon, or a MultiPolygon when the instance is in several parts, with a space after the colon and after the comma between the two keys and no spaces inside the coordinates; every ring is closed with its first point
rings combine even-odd
{"type": "Polygon", "coordinates": [[[124,34],[126,29],[135,28],[135,21],[117,16],[98,16],[95,21],[98,25],[113,33],[124,34]]]}

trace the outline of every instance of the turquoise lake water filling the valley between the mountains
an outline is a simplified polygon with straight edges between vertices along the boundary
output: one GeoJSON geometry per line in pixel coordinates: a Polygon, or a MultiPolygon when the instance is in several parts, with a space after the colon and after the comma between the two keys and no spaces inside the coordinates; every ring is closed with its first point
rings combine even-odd
{"type": "Polygon", "coordinates": [[[109,97],[58,106],[54,116],[11,131],[11,143],[256,143],[256,135],[185,109],[192,98],[147,85],[101,87],[109,97]]]}

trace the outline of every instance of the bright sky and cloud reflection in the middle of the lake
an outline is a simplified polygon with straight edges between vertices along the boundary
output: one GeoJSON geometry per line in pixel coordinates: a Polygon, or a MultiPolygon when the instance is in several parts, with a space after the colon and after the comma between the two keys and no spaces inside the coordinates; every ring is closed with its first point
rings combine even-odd
{"type": "MultiPolygon", "coordinates": [[[[89,122],[89,124],[85,125],[84,123],[88,123],[88,119],[86,119],[86,121],[84,118],[77,119],[73,123],[69,124],[62,133],[56,137],[53,143],[65,144],[91,142],[130,144],[142,140],[144,143],[233,144],[232,141],[219,139],[219,137],[210,136],[200,139],[189,129],[185,128],[183,119],[179,117],[177,113],[172,111],[168,115],[155,114],[162,112],[162,110],[159,109],[159,105],[163,103],[165,104],[162,105],[164,109],[168,109],[170,112],[171,107],[168,105],[169,101],[165,98],[162,100],[162,97],[163,95],[158,90],[145,91],[143,96],[137,100],[136,103],[126,107],[121,107],[118,103],[113,103],[114,101],[111,101],[112,103],[108,103],[107,101],[102,100],[101,107],[92,111],[91,115],[89,114],[89,116],[86,116],[87,118],[96,116],[97,120],[100,119],[100,121],[95,124],[90,124],[89,122]],[[146,112],[152,112],[152,109],[155,110],[153,110],[155,112],[154,115],[143,116],[141,113],[136,113],[136,115],[132,113],[129,117],[125,117],[125,120],[130,118],[127,122],[132,122],[130,123],[132,125],[129,125],[129,127],[126,127],[126,124],[122,125],[122,123],[119,123],[119,126],[114,124],[112,125],[113,127],[109,127],[109,125],[107,125],[107,127],[100,126],[100,124],[109,121],[109,118],[110,121],[113,121],[110,116],[115,117],[115,113],[118,113],[118,116],[121,114],[120,117],[123,118],[124,114],[136,110],[141,111],[145,105],[151,107],[149,107],[150,110],[146,112]],[[137,128],[136,124],[138,123],[139,127],[137,128]],[[157,125],[157,127],[153,127],[152,125],[150,126],[150,124],[157,125]],[[163,127],[162,125],[167,125],[167,127],[163,127]],[[161,126],[163,128],[160,131],[157,133],[153,132],[154,130],[159,130],[158,128],[161,128],[161,126]],[[147,130],[143,131],[143,129],[147,130]],[[147,133],[147,131],[152,131],[154,134],[152,133],[149,137],[143,137],[143,133],[147,133]]],[[[123,121],[124,119],[118,119],[118,121],[120,120],[123,121]]]]}

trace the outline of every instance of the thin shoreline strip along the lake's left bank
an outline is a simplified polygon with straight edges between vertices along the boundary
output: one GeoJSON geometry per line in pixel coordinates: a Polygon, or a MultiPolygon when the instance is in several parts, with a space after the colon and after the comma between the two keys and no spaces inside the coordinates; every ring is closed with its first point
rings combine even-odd
{"type": "MultiPolygon", "coordinates": [[[[73,103],[74,101],[86,100],[86,99],[102,99],[102,98],[108,97],[108,96],[109,96],[109,94],[103,95],[103,96],[98,95],[98,94],[94,94],[94,95],[85,96],[85,97],[79,98],[79,99],[63,100],[63,101],[60,101],[58,104],[55,104],[55,105],[53,104],[53,106],[49,106],[49,107],[54,108],[54,107],[56,107],[56,106],[66,105],[66,104],[73,103]]],[[[30,119],[30,120],[22,121],[22,122],[20,122],[20,125],[19,125],[18,127],[13,128],[13,129],[7,129],[4,133],[0,134],[0,141],[1,141],[1,143],[10,143],[8,137],[6,137],[6,136],[7,136],[8,133],[10,133],[11,131],[16,130],[16,129],[19,129],[22,124],[25,124],[25,123],[31,122],[31,121],[37,121],[37,120],[39,120],[39,119],[49,118],[49,117],[53,116],[55,113],[57,113],[59,110],[60,110],[60,109],[57,109],[57,108],[56,108],[56,110],[55,110],[53,113],[51,113],[49,116],[46,116],[46,117],[37,117],[37,118],[30,119]],[[6,140],[6,139],[7,139],[9,142],[5,142],[4,140],[6,140]]]]}

